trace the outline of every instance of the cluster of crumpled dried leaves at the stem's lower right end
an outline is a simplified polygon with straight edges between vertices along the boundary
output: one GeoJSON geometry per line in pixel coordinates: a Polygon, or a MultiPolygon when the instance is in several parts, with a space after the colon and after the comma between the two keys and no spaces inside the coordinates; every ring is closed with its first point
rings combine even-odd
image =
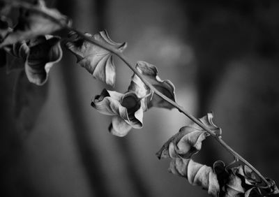
{"type": "MultiPolygon", "coordinates": [[[[221,136],[221,130],[213,124],[213,114],[199,119],[211,131],[221,136]]],[[[273,180],[266,179],[271,187],[266,187],[262,180],[246,165],[234,168],[225,166],[223,161],[216,161],[213,167],[193,161],[193,154],[202,148],[202,141],[209,134],[193,123],[183,126],[179,133],[172,136],[157,152],[158,158],[171,158],[169,172],[186,177],[188,182],[199,185],[211,196],[266,196],[278,194],[273,180]]]]}

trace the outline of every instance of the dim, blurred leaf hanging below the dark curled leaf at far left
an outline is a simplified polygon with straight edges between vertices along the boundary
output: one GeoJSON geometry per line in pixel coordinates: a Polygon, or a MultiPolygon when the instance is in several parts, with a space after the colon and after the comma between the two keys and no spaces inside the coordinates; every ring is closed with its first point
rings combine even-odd
{"type": "Polygon", "coordinates": [[[48,86],[38,87],[31,84],[21,71],[15,82],[14,90],[14,115],[17,126],[23,131],[29,132],[36,124],[38,114],[47,99],[48,86]]]}

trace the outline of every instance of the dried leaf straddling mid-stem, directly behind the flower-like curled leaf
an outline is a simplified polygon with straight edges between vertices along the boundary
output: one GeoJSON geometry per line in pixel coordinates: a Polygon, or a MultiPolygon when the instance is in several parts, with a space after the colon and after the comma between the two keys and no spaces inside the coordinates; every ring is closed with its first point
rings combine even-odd
{"type": "MultiPolygon", "coordinates": [[[[151,85],[156,87],[159,92],[175,102],[174,85],[170,80],[161,80],[159,78],[156,66],[145,61],[137,61],[136,68],[137,71],[144,75],[151,85]]],[[[146,87],[144,82],[142,82],[136,74],[132,76],[132,81],[128,87],[128,91],[136,92],[139,97],[144,97],[150,92],[149,87],[146,87]]],[[[150,95],[146,98],[146,109],[151,107],[168,109],[174,108],[173,105],[170,105],[167,101],[161,99],[160,96],[157,96],[156,94],[150,95]]]]}

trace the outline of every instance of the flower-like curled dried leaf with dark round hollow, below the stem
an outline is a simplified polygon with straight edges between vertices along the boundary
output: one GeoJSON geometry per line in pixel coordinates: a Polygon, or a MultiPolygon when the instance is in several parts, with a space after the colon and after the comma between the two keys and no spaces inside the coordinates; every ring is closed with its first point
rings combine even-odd
{"type": "Polygon", "coordinates": [[[142,128],[142,102],[133,92],[121,94],[103,89],[100,95],[95,96],[91,105],[104,115],[115,116],[110,126],[110,132],[115,136],[126,136],[132,127],[142,128]]]}

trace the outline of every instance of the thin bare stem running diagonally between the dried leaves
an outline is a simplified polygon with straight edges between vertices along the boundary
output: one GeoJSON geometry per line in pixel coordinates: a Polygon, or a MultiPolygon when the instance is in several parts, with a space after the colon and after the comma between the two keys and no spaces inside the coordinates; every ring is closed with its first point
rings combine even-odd
{"type": "Polygon", "coordinates": [[[68,31],[75,31],[77,33],[77,35],[84,38],[85,41],[88,41],[89,43],[93,43],[94,45],[98,45],[100,48],[104,48],[105,50],[108,50],[108,51],[116,54],[116,56],[118,56],[142,80],[142,82],[144,82],[144,84],[147,87],[149,87],[149,89],[151,89],[151,92],[154,92],[155,94],[160,96],[162,99],[167,101],[169,104],[173,105],[174,108],[179,110],[179,112],[182,112],[189,119],[191,119],[193,122],[195,122],[195,124],[199,125],[202,129],[204,129],[204,131],[209,133],[215,140],[217,140],[218,143],[220,143],[220,145],[222,145],[227,150],[227,152],[232,154],[232,156],[234,156],[234,158],[239,159],[239,161],[243,162],[244,164],[246,164],[246,166],[251,168],[263,180],[263,182],[266,184],[266,187],[271,187],[271,185],[263,177],[263,175],[261,173],[259,173],[259,171],[254,166],[252,166],[248,161],[246,161],[246,159],[244,159],[240,154],[235,152],[234,149],[232,149],[232,147],[229,147],[229,145],[227,145],[227,143],[225,143],[225,141],[221,138],[221,136],[219,136],[216,133],[214,133],[213,131],[211,131],[209,128],[207,128],[207,126],[202,124],[202,122],[200,122],[199,119],[197,119],[196,117],[191,115],[181,105],[172,101],[167,96],[165,96],[164,94],[159,92],[158,89],[153,87],[153,85],[151,85],[151,83],[148,80],[146,80],[140,72],[137,71],[137,69],[133,66],[133,64],[131,64],[128,61],[128,59],[122,54],[122,52],[120,52],[116,48],[113,48],[112,45],[109,45],[107,43],[100,43],[96,40],[93,40],[92,38],[90,38],[88,36],[85,36],[84,34],[82,34],[82,32],[77,31],[76,29],[74,29],[72,27],[69,27],[68,24],[65,24],[65,23],[61,22],[59,19],[57,19],[56,17],[53,17],[52,15],[49,15],[44,10],[41,10],[40,8],[32,6],[30,3],[26,3],[26,2],[22,2],[22,1],[8,1],[8,0],[4,0],[4,1],[6,1],[6,3],[10,3],[11,6],[19,7],[19,8],[26,8],[28,10],[32,10],[33,12],[40,13],[41,15],[44,15],[45,17],[49,18],[53,22],[56,22],[57,24],[59,24],[61,26],[61,28],[67,29],[68,31]]]}

